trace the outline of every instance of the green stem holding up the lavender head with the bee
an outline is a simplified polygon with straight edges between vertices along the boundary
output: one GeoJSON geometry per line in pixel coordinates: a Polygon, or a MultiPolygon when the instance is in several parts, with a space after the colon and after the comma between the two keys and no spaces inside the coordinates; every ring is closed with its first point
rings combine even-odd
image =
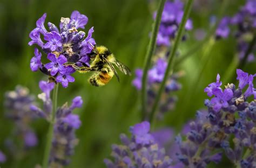
{"type": "Polygon", "coordinates": [[[53,137],[53,129],[54,129],[54,124],[55,124],[55,114],[56,114],[56,110],[57,110],[58,87],[59,87],[59,84],[57,83],[53,89],[52,111],[51,111],[48,136],[46,139],[46,146],[45,146],[45,150],[44,150],[43,168],[47,168],[48,164],[49,164],[51,145],[52,145],[52,137],[53,137]]]}

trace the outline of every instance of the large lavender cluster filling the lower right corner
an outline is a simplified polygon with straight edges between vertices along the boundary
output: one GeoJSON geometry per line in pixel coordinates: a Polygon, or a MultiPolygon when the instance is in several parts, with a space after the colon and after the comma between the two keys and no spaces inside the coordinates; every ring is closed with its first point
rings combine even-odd
{"type": "Polygon", "coordinates": [[[185,141],[181,136],[176,138],[180,148],[177,157],[184,165],[206,167],[211,161],[219,163],[222,148],[233,164],[242,168],[256,166],[256,75],[241,69],[237,69],[237,75],[238,88],[232,83],[223,90],[219,74],[217,81],[205,88],[207,95],[213,96],[205,100],[208,110],[198,111],[185,141]],[[254,100],[247,101],[252,95],[254,100]]]}

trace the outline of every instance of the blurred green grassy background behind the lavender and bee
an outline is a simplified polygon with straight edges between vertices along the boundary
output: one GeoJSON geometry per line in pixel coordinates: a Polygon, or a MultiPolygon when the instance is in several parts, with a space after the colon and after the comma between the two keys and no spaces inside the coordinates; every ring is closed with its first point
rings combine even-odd
{"type": "MultiPolygon", "coordinates": [[[[94,26],[96,43],[107,46],[134,73],[134,69],[144,64],[156,3],[146,0],[0,1],[0,102],[3,102],[4,92],[13,90],[18,84],[28,87],[32,94],[40,93],[38,82],[46,80],[46,76],[31,72],[29,64],[33,47],[28,42],[29,32],[44,12],[47,13],[45,26],[47,22],[58,25],[60,17],[70,17],[73,10],[86,15],[89,22],[85,32],[94,26]]],[[[194,0],[190,16],[194,29],[186,32],[187,40],[179,47],[181,54],[198,43],[194,38],[196,29],[209,30],[209,18],[217,15],[220,3],[194,0]]],[[[225,15],[232,16],[244,3],[230,1],[225,15]]],[[[179,99],[176,108],[165,115],[163,122],[157,123],[158,127],[170,126],[179,131],[196,110],[204,108],[207,95],[203,90],[208,83],[215,81],[217,73],[224,79],[235,55],[235,45],[233,37],[219,40],[213,44],[211,52],[204,55],[207,48],[205,43],[197,52],[191,53],[190,58],[176,66],[176,71],[185,72],[179,80],[183,88],[174,93],[179,99]]],[[[255,73],[255,64],[247,64],[243,70],[255,73]]],[[[232,76],[226,82],[235,82],[235,71],[230,72],[232,76]]],[[[104,167],[103,159],[110,156],[111,144],[119,143],[119,134],[128,133],[130,125],[140,122],[140,94],[131,85],[134,74],[130,77],[120,74],[120,83],[112,79],[104,87],[90,86],[87,82],[89,74],[75,73],[73,76],[76,81],[66,89],[60,87],[58,99],[59,106],[66,101],[70,103],[77,95],[84,100],[83,108],[75,111],[80,115],[82,127],[77,130],[79,144],[69,167],[104,167]]],[[[3,145],[4,137],[9,135],[13,124],[4,117],[3,103],[0,103],[0,109],[0,149],[8,153],[3,145]]],[[[17,160],[9,157],[2,167],[35,167],[42,163],[48,123],[38,120],[33,127],[39,138],[38,146],[29,150],[18,164],[14,164],[17,160]]]]}

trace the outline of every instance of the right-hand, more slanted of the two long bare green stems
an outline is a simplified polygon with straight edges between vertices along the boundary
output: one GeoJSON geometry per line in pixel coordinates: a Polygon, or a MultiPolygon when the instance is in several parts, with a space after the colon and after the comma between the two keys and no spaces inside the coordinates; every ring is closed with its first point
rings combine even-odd
{"type": "Polygon", "coordinates": [[[180,40],[181,40],[181,37],[183,35],[183,31],[185,29],[185,24],[186,24],[186,21],[187,21],[187,18],[189,16],[189,14],[190,14],[191,8],[192,8],[192,3],[193,3],[193,0],[188,0],[187,4],[185,6],[185,11],[184,11],[184,15],[183,15],[182,20],[181,20],[181,24],[179,26],[178,34],[177,34],[177,37],[174,41],[174,44],[173,44],[173,47],[172,47],[172,52],[169,55],[169,60],[168,60],[168,65],[166,67],[164,80],[163,80],[163,82],[161,82],[160,89],[158,90],[156,100],[154,101],[153,108],[152,108],[152,111],[150,113],[150,118],[149,119],[150,119],[150,122],[151,122],[152,125],[154,123],[154,120],[156,119],[157,108],[158,108],[158,104],[159,104],[159,101],[160,101],[160,97],[164,92],[165,83],[167,81],[167,78],[169,77],[169,73],[172,72],[172,70],[173,70],[173,65],[174,65],[173,59],[175,57],[176,51],[178,49],[178,46],[179,46],[179,43],[180,43],[180,40]]]}

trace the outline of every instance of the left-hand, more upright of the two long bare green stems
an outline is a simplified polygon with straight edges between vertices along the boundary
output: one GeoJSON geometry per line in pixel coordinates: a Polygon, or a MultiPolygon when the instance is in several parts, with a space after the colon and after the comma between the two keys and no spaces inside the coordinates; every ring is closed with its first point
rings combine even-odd
{"type": "Polygon", "coordinates": [[[145,117],[146,117],[147,71],[149,71],[151,58],[152,58],[154,49],[156,48],[157,34],[158,34],[159,26],[161,23],[161,16],[162,16],[162,13],[164,10],[165,2],[166,2],[166,0],[161,0],[159,2],[156,20],[154,21],[154,24],[153,24],[152,36],[150,38],[150,43],[149,43],[149,46],[147,48],[147,53],[146,53],[146,62],[144,65],[143,76],[142,76],[142,120],[145,120],[145,117]]]}

